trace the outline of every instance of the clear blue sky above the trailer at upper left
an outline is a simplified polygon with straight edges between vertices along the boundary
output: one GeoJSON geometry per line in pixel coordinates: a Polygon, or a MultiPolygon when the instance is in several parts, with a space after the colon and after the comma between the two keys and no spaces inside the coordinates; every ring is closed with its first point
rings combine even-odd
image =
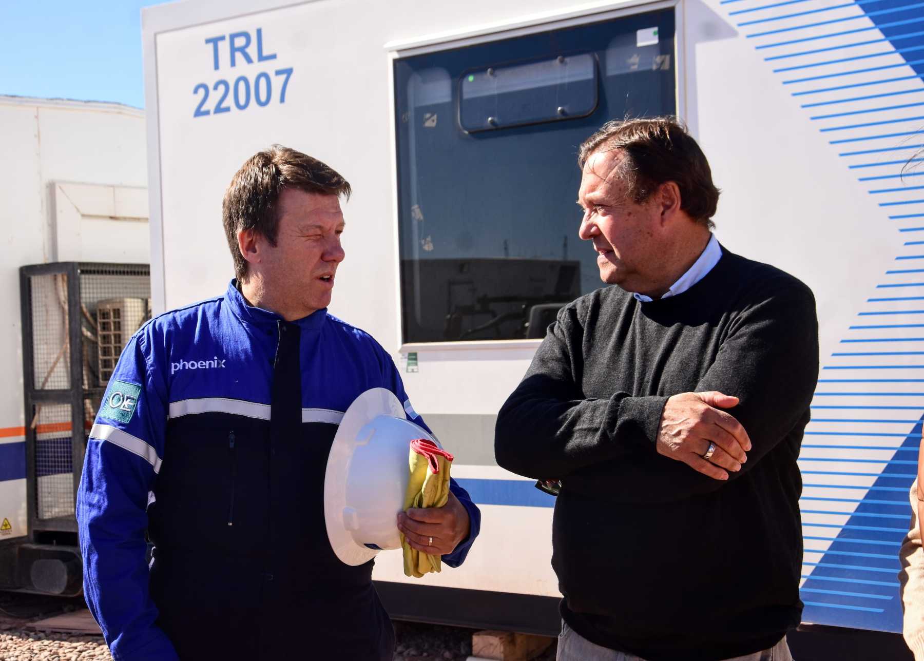
{"type": "Polygon", "coordinates": [[[141,7],[165,0],[0,0],[0,94],[144,107],[141,7]]]}

